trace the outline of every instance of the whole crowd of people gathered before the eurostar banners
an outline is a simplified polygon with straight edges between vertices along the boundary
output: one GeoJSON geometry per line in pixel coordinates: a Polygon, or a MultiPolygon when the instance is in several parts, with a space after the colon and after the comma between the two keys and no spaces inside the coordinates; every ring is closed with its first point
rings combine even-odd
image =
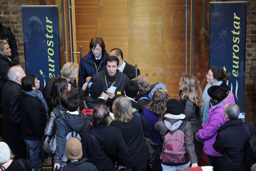
{"type": "Polygon", "coordinates": [[[195,76],[182,75],[178,98],[169,99],[164,84],[150,84],[123,60],[121,49],[108,55],[103,39],[95,37],[80,65],[66,63],[60,78],[40,92],[40,81],[13,66],[10,54],[8,42],[0,40],[6,65],[0,73],[1,170],[41,171],[51,156],[54,170],[146,171],[157,148],[163,171],[198,167],[203,153],[214,171],[246,170],[249,136],[220,67],[209,69],[204,91],[195,76]],[[43,148],[46,138],[55,141],[50,152],[43,148]]]}

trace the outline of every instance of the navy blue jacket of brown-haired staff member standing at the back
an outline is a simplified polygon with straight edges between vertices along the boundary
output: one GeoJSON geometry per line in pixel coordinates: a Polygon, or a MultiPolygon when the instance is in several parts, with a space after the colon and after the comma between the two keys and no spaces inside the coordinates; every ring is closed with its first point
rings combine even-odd
{"type": "MultiPolygon", "coordinates": [[[[102,53],[102,62],[99,65],[99,71],[104,71],[106,70],[106,63],[107,63],[107,58],[108,58],[108,53],[106,50],[103,51],[102,53]]],[[[78,88],[82,89],[83,84],[86,82],[85,79],[87,77],[92,77],[94,74],[96,74],[96,69],[95,69],[95,63],[93,61],[94,55],[92,53],[92,50],[88,52],[86,56],[83,57],[82,61],[80,62],[79,65],[79,75],[78,75],[78,88]]]]}

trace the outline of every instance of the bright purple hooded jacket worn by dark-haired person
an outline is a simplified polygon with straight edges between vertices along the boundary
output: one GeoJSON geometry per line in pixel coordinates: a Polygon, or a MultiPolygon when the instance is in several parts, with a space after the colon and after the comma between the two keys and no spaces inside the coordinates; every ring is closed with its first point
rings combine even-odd
{"type": "Polygon", "coordinates": [[[209,114],[205,124],[203,124],[203,128],[196,134],[196,138],[203,140],[203,151],[209,156],[222,156],[222,154],[212,147],[212,144],[215,142],[218,128],[226,122],[223,109],[224,106],[229,103],[235,104],[234,95],[230,91],[223,101],[210,107],[209,114]]]}

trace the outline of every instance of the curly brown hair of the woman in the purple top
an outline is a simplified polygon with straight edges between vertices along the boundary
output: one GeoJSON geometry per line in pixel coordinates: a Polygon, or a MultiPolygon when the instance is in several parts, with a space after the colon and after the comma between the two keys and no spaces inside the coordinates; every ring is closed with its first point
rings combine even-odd
{"type": "Polygon", "coordinates": [[[155,115],[163,115],[166,113],[166,103],[169,100],[169,95],[166,90],[159,88],[153,93],[151,101],[145,107],[150,109],[155,115]]]}

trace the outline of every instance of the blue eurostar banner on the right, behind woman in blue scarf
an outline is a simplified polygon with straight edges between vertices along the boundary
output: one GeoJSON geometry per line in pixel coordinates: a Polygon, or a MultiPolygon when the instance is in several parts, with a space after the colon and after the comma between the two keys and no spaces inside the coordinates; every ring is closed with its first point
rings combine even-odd
{"type": "Polygon", "coordinates": [[[247,2],[210,2],[210,66],[229,75],[227,85],[244,111],[247,2]]]}

